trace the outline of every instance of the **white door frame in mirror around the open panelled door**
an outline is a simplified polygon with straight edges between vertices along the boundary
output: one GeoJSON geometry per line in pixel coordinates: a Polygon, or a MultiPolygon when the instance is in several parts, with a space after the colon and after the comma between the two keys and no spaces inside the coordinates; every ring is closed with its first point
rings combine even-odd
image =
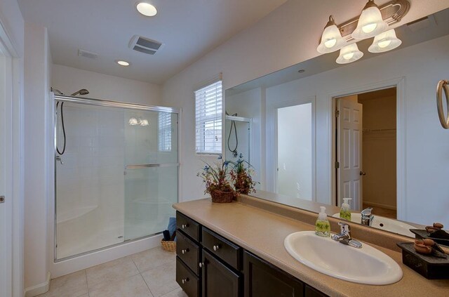
{"type": "Polygon", "coordinates": [[[328,103],[330,105],[330,121],[329,121],[329,143],[330,143],[330,172],[329,178],[332,187],[330,188],[331,202],[335,205],[336,184],[335,184],[335,107],[337,98],[345,95],[355,95],[377,91],[384,88],[396,87],[396,212],[397,219],[403,220],[406,216],[406,79],[399,77],[396,79],[388,79],[386,81],[378,81],[373,84],[356,86],[347,88],[334,93],[328,94],[328,103]]]}

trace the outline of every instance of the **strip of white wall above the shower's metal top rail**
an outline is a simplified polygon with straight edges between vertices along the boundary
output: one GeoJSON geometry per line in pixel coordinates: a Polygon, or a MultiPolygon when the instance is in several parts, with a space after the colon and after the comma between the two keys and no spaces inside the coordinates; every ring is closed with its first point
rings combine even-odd
{"type": "Polygon", "coordinates": [[[162,88],[144,81],[123,79],[72,67],[53,65],[51,85],[66,95],[87,88],[90,92],[84,97],[107,99],[145,105],[161,105],[162,88]]]}

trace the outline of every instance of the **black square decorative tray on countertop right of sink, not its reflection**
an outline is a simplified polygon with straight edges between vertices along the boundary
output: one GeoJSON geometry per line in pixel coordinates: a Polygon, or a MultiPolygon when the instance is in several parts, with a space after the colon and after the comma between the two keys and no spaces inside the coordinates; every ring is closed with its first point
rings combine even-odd
{"type": "Polygon", "coordinates": [[[449,256],[438,258],[415,251],[413,242],[397,244],[402,249],[402,263],[427,279],[449,279],[449,256]]]}

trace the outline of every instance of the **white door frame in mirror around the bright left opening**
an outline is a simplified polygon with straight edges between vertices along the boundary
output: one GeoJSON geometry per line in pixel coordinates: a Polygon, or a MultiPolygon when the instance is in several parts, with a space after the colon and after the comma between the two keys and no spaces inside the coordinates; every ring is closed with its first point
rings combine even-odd
{"type": "Polygon", "coordinates": [[[278,121],[277,110],[283,107],[289,107],[294,105],[301,105],[311,103],[311,195],[312,201],[316,201],[316,96],[307,96],[303,98],[296,98],[293,100],[278,101],[267,106],[267,139],[273,139],[274,141],[267,142],[267,156],[274,156],[273,158],[267,158],[267,191],[276,192],[277,188],[277,156],[278,156],[278,121]]]}

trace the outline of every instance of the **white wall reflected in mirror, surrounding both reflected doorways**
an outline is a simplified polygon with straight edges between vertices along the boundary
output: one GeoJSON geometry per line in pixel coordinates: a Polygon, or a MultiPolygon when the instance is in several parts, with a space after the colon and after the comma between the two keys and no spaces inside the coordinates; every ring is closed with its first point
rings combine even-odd
{"type": "Polygon", "coordinates": [[[402,215],[398,218],[421,224],[449,224],[448,199],[444,194],[449,176],[449,138],[448,131],[439,124],[435,104],[435,86],[447,76],[448,65],[449,36],[445,36],[267,88],[267,100],[295,94],[316,96],[316,179],[320,181],[317,198],[330,202],[333,94],[370,90],[373,85],[402,78],[406,180],[404,204],[398,209],[398,215],[402,215]]]}

